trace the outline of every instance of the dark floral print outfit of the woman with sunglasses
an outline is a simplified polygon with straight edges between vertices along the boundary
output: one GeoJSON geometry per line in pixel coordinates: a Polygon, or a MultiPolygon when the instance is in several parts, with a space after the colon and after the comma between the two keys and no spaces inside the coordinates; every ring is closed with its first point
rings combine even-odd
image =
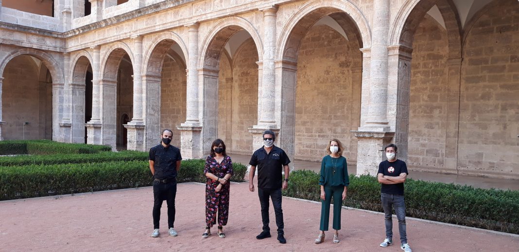
{"type": "MultiPolygon", "coordinates": [[[[203,174],[212,173],[217,177],[223,178],[225,174],[233,175],[233,162],[229,156],[225,156],[220,164],[212,156],[206,158],[206,167],[203,174]]],[[[229,218],[229,189],[230,183],[227,182],[222,189],[216,192],[218,182],[207,178],[206,181],[206,224],[212,227],[216,224],[216,211],[218,212],[218,226],[227,225],[229,218]]]]}

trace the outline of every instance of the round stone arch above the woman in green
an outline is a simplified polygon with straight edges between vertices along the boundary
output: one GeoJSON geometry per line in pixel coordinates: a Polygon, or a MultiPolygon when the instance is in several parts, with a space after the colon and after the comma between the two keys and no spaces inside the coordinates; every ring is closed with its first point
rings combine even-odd
{"type": "MultiPolygon", "coordinates": [[[[276,58],[285,59],[285,55],[290,55],[291,50],[296,50],[294,47],[299,45],[298,41],[301,41],[301,38],[305,35],[304,32],[294,33],[294,28],[297,25],[302,25],[302,29],[308,29],[320,18],[329,14],[344,15],[343,18],[348,17],[344,22],[339,23],[345,29],[345,32],[348,32],[347,29],[356,27],[360,35],[356,36],[356,39],[359,41],[360,47],[371,47],[371,28],[357,6],[350,2],[337,3],[337,1],[314,0],[303,5],[283,27],[276,47],[276,58]],[[301,23],[304,18],[306,18],[305,24],[301,23]]],[[[335,18],[338,18],[338,16],[335,18]]],[[[297,58],[296,54],[294,56],[297,58]]],[[[293,61],[294,57],[288,59],[293,61]]]]}

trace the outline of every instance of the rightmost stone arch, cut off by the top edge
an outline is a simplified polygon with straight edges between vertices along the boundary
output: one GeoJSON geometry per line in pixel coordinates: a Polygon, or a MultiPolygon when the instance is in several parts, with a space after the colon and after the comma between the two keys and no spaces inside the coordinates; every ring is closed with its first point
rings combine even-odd
{"type": "Polygon", "coordinates": [[[452,0],[407,0],[399,10],[389,31],[389,45],[404,45],[412,48],[416,28],[427,11],[438,6],[445,22],[449,39],[449,57],[461,56],[461,23],[456,5],[452,0]]]}

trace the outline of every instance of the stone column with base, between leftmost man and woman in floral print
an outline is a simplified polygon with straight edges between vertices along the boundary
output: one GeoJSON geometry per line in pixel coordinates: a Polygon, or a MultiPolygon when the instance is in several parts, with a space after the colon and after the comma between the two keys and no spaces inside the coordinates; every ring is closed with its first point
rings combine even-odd
{"type": "MultiPolygon", "coordinates": [[[[186,84],[186,122],[177,126],[177,129],[180,130],[180,151],[184,158],[200,158],[203,153],[202,126],[200,124],[202,113],[199,111],[199,100],[202,104],[204,104],[204,100],[199,97],[199,89],[203,90],[204,80],[203,78],[199,80],[198,26],[198,23],[187,26],[189,29],[187,49],[189,59],[186,84]]],[[[201,75],[203,76],[203,70],[201,70],[201,75]]],[[[212,92],[214,93],[214,90],[212,92]]],[[[215,95],[217,96],[217,93],[215,95]]]]}

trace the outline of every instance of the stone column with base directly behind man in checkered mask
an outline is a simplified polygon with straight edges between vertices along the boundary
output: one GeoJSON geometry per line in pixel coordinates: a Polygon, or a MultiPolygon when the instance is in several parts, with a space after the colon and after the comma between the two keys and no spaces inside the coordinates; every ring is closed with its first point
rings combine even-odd
{"type": "MultiPolygon", "coordinates": [[[[263,11],[263,61],[258,62],[258,123],[249,128],[252,133],[253,152],[263,146],[263,131],[270,129],[279,132],[280,121],[276,121],[276,17],[277,7],[263,11]],[[261,84],[259,84],[261,83],[261,84]]],[[[278,136],[279,137],[279,136],[278,136]]],[[[281,144],[278,140],[275,143],[281,144]]],[[[285,150],[286,151],[286,150],[285,150]]]]}

